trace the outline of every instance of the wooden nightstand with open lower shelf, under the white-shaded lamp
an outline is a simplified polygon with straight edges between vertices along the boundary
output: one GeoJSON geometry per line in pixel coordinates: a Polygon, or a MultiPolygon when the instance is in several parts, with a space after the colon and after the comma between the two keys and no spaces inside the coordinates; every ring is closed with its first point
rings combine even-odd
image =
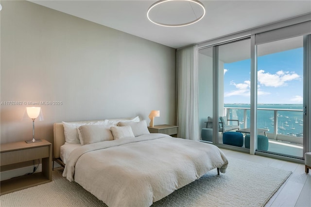
{"type": "Polygon", "coordinates": [[[42,172],[1,181],[0,194],[22,190],[52,181],[52,144],[46,140],[1,144],[0,166],[42,159],[42,172]]]}

